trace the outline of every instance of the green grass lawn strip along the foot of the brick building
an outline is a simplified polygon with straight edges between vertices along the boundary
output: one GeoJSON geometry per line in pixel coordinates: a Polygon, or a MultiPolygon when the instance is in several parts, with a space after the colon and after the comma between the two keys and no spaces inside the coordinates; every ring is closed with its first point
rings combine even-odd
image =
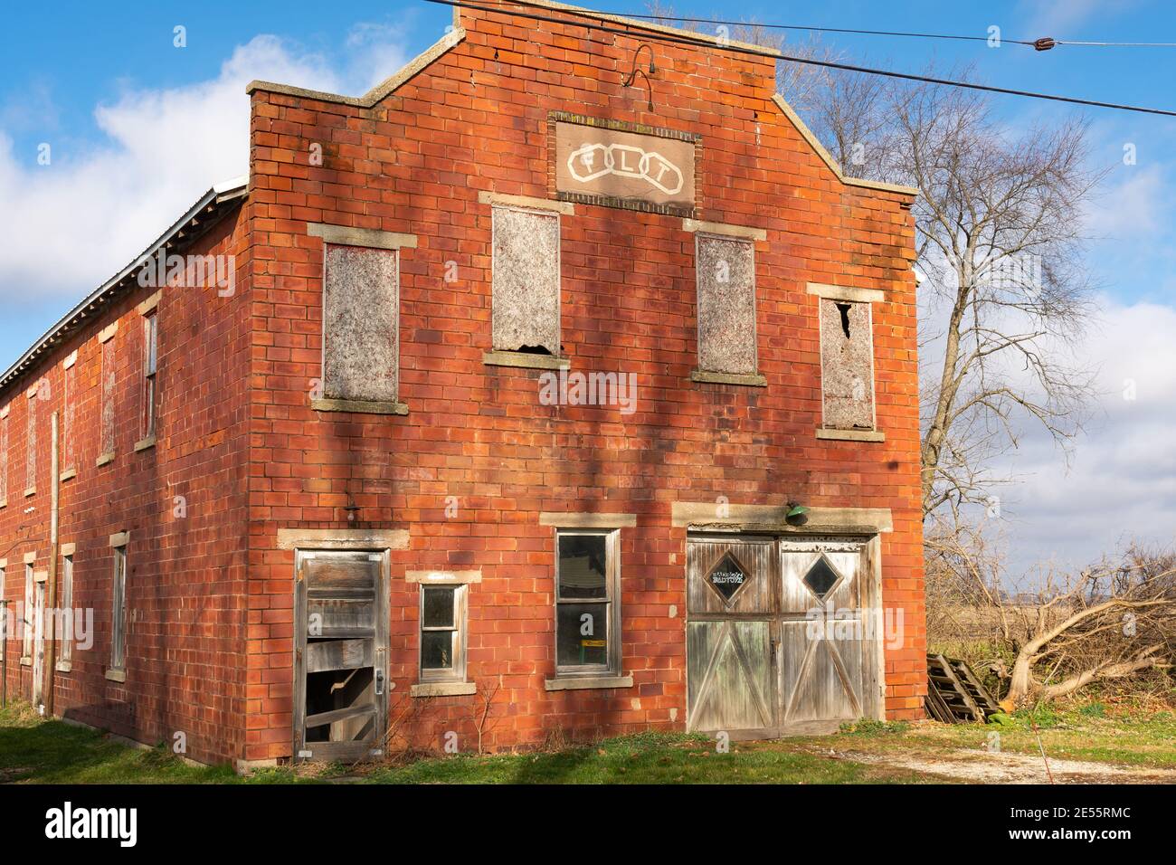
{"type": "MultiPolygon", "coordinates": [[[[1108,718],[1100,704],[1038,717],[1054,758],[1176,767],[1176,716],[1108,718]]],[[[281,767],[239,778],[228,766],[192,766],[165,746],[135,748],[102,733],[44,720],[25,704],[0,711],[0,783],[59,784],[920,784],[926,772],[867,764],[835,752],[943,757],[978,753],[991,732],[1001,750],[1037,753],[1027,719],[1007,725],[861,723],[826,737],[733,743],[716,753],[699,734],[641,733],[559,751],[433,757],[402,765],[281,767]]]]}

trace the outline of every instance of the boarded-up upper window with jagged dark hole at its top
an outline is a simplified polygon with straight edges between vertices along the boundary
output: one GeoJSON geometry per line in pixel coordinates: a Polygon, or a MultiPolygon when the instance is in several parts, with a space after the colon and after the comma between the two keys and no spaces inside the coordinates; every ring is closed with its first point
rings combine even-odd
{"type": "Polygon", "coordinates": [[[870,305],[821,298],[821,387],[824,426],[874,428],[870,305]]]}

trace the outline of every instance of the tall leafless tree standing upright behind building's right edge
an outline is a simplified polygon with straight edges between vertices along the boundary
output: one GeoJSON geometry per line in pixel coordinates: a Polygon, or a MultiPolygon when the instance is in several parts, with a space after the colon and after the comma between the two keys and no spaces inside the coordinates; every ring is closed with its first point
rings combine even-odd
{"type": "MultiPolygon", "coordinates": [[[[957,73],[967,78],[967,73],[957,73]]],[[[923,513],[989,501],[1025,421],[1068,453],[1094,395],[1087,125],[1013,133],[982,94],[855,73],[808,114],[846,171],[916,187],[923,513]]]]}

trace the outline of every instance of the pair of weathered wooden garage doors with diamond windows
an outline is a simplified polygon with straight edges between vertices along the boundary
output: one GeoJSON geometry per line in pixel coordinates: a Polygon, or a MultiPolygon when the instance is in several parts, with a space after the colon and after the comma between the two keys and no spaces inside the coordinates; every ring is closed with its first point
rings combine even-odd
{"type": "Polygon", "coordinates": [[[690,535],[687,727],[733,738],[880,717],[868,538],[690,535]]]}

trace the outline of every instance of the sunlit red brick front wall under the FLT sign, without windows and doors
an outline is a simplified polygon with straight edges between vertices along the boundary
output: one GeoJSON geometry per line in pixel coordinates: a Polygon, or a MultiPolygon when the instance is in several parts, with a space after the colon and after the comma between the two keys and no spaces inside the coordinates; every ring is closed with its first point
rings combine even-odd
{"type": "Polygon", "coordinates": [[[640,32],[540,29],[473,11],[462,24],[462,41],[374,107],[280,88],[252,95],[248,757],[290,753],[294,554],[278,532],[347,527],[349,514],[356,526],[410,533],[408,548],[392,553],[394,714],[417,680],[419,587],[406,573],[481,574],[468,620],[479,694],[430,700],[415,731],[423,744],[449,730],[472,741],[481,696],[499,681],[490,747],[682,728],[687,530],[671,525],[676,501],[888,508],[883,604],[903,613],[904,632],[886,652],[886,707],[891,718],[917,717],[926,637],[909,198],[843,184],[771,101],[770,60],[653,42],[647,95],[621,86],[640,32]],[[635,372],[635,411],[543,405],[539,371],[483,364],[492,215],[479,193],[555,198],[549,111],[701,134],[696,215],[767,232],[755,246],[767,387],[691,381],[695,235],[683,220],[583,204],[561,218],[563,355],[582,372],[635,372]],[[310,222],[416,237],[400,253],[407,415],[310,407],[323,292],[323,244],[310,222]],[[884,441],[816,438],[820,328],[809,282],[884,293],[873,311],[884,441]],[[576,511],[636,515],[621,531],[621,666],[632,687],[544,688],[555,658],[555,537],[540,514],[576,511]]]}

